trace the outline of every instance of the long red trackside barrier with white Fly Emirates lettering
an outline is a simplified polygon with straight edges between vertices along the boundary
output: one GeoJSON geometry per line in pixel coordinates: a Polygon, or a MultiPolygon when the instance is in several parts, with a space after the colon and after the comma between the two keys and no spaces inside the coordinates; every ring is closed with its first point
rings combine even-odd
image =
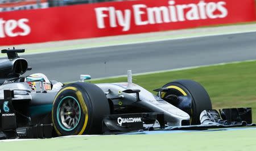
{"type": "Polygon", "coordinates": [[[142,0],[1,12],[0,45],[178,30],[254,20],[254,0],[142,0]]]}

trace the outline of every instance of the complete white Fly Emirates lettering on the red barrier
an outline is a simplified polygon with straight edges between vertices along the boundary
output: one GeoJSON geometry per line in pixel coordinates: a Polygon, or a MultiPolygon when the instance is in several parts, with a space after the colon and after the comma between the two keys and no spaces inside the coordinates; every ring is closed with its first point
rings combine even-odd
{"type": "Polygon", "coordinates": [[[98,7],[95,9],[97,27],[122,27],[122,31],[129,31],[131,22],[136,26],[148,24],[162,24],[184,22],[187,20],[204,20],[225,18],[228,16],[226,2],[188,3],[176,5],[175,1],[168,1],[168,5],[148,7],[146,4],[133,5],[132,9],[117,10],[115,7],[98,7]],[[134,14],[134,17],[131,16],[134,14]],[[131,21],[131,19],[134,19],[131,21]],[[106,24],[108,20],[108,25],[106,24]]]}

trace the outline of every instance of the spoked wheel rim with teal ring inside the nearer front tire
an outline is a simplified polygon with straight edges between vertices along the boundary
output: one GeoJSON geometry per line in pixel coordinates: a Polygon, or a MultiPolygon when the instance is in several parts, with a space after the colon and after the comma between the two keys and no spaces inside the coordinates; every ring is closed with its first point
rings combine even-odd
{"type": "Polygon", "coordinates": [[[81,118],[80,104],[76,98],[68,96],[60,100],[57,107],[57,122],[65,131],[77,127],[81,118]]]}

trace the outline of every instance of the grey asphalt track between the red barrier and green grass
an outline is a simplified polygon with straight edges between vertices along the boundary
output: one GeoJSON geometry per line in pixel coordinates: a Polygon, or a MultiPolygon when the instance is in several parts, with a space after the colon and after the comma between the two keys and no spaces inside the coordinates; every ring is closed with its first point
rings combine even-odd
{"type": "MultiPolygon", "coordinates": [[[[22,55],[20,55],[22,56],[22,55]]],[[[61,82],[256,59],[256,32],[23,56],[30,73],[61,82]]]]}

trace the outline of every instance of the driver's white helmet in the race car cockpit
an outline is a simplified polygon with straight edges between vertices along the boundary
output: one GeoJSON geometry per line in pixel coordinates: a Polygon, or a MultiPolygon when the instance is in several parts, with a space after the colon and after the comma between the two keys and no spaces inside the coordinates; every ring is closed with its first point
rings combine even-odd
{"type": "MultiPolygon", "coordinates": [[[[30,85],[32,90],[36,90],[35,82],[43,82],[44,89],[51,90],[51,82],[46,77],[46,75],[44,75],[42,73],[35,73],[35,74],[28,75],[25,79],[25,82],[27,82],[28,85],[30,85]]],[[[41,87],[42,87],[42,85],[41,85],[41,87]]],[[[41,89],[41,87],[40,87],[40,89],[41,89]]]]}

